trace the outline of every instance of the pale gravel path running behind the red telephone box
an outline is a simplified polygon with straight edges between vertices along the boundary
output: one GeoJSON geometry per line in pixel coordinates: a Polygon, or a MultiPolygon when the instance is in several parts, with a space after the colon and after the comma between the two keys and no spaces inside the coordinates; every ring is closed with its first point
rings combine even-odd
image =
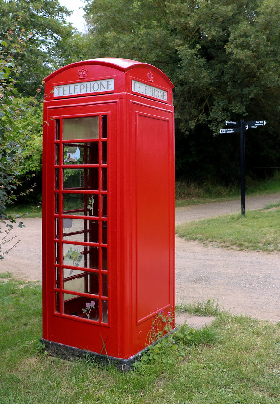
{"type": "MultiPolygon", "coordinates": [[[[246,210],[263,208],[280,200],[280,194],[246,199],[246,210]]],[[[216,202],[176,208],[176,224],[241,212],[241,201],[216,202]]],[[[241,214],[241,213],[240,213],[241,214]]],[[[25,227],[15,226],[21,240],[0,261],[0,272],[18,278],[42,281],[42,221],[24,219],[25,227]]],[[[232,314],[280,321],[280,254],[236,251],[176,237],[176,303],[215,298],[232,314]]],[[[177,322],[210,323],[212,318],[181,316],[177,322]]]]}

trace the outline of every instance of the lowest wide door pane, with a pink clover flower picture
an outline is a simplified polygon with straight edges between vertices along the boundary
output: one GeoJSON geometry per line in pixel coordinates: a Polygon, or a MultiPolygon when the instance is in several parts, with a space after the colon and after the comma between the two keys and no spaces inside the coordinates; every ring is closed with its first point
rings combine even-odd
{"type": "Polygon", "coordinates": [[[99,304],[97,299],[63,293],[63,313],[70,316],[89,318],[99,321],[99,304]],[[87,308],[86,304],[94,302],[94,307],[87,308]],[[85,313],[83,311],[85,310],[85,313]]]}

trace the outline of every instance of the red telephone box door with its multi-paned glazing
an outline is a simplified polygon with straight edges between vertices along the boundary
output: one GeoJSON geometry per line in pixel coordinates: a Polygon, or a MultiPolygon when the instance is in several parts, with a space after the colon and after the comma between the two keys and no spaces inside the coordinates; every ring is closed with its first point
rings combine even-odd
{"type": "Polygon", "coordinates": [[[46,115],[44,338],[117,356],[116,103],[46,115]]]}

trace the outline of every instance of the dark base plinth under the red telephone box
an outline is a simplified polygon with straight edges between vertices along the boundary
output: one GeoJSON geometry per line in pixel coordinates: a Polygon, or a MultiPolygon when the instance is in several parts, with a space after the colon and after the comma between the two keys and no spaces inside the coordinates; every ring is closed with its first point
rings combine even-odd
{"type": "MultiPolygon", "coordinates": [[[[167,337],[176,330],[177,328],[169,332],[169,334],[165,335],[163,338],[167,337]]],[[[115,358],[114,356],[103,355],[97,352],[86,351],[85,349],[70,347],[69,345],[48,341],[47,339],[44,338],[41,338],[40,341],[41,343],[44,343],[46,345],[45,349],[51,354],[51,356],[57,356],[61,359],[67,359],[67,360],[76,358],[84,358],[84,359],[92,358],[95,362],[101,363],[104,366],[112,364],[122,372],[126,372],[127,370],[131,369],[133,367],[133,364],[141,358],[143,353],[147,352],[150,347],[158,343],[158,341],[156,341],[152,345],[149,345],[145,349],[142,349],[142,351],[137,352],[130,358],[122,359],[122,358],[115,358]]]]}

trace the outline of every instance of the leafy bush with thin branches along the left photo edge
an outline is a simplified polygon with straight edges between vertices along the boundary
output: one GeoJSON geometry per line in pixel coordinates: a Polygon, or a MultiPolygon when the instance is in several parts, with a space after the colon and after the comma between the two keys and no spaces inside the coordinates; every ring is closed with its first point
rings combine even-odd
{"type": "MultiPolygon", "coordinates": [[[[22,31],[22,33],[24,30],[22,31]]],[[[19,186],[19,167],[23,159],[22,148],[25,145],[27,135],[19,136],[20,122],[30,107],[36,103],[36,96],[29,99],[28,103],[17,101],[18,96],[15,84],[20,68],[15,60],[24,51],[24,41],[21,34],[13,39],[11,29],[0,40],[0,259],[11,248],[2,252],[3,245],[15,237],[10,236],[15,223],[15,216],[6,215],[7,204],[13,204],[17,200],[17,187],[19,186]]],[[[40,92],[38,89],[37,94],[40,92]]],[[[30,187],[25,191],[33,189],[30,187]]],[[[19,227],[23,223],[19,222],[19,227]]]]}

